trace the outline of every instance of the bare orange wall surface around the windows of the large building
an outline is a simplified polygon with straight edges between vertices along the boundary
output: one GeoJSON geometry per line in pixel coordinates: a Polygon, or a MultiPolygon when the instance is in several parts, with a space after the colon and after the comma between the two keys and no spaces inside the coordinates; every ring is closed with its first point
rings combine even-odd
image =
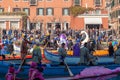
{"type": "MultiPolygon", "coordinates": [[[[107,11],[104,9],[105,8],[105,0],[101,0],[102,1],[102,5],[99,7],[95,7],[94,5],[94,0],[81,0],[81,6],[83,7],[92,7],[93,9],[100,9],[101,10],[101,14],[108,14],[107,11]]],[[[0,7],[1,8],[5,8],[4,12],[13,12],[13,8],[21,8],[21,10],[23,8],[30,8],[30,15],[29,15],[29,20],[30,22],[37,22],[37,21],[42,21],[42,23],[44,24],[45,29],[46,24],[48,22],[68,22],[69,23],[69,27],[71,27],[72,29],[84,29],[84,18],[72,18],[72,16],[63,16],[62,15],[62,8],[69,8],[70,6],[73,5],[73,0],[68,0],[68,1],[64,1],[64,0],[52,0],[52,1],[47,1],[47,0],[43,0],[37,3],[37,5],[35,6],[30,6],[29,2],[25,2],[23,0],[19,0],[17,2],[15,2],[14,0],[3,0],[0,2],[0,7]],[[54,15],[53,16],[39,16],[37,15],[37,8],[48,8],[48,7],[52,7],[54,8],[54,15]]],[[[94,14],[92,14],[94,15],[94,14]]],[[[107,22],[106,18],[102,19],[103,22],[107,22]]],[[[22,22],[20,23],[20,28],[22,27],[22,22]]],[[[105,28],[107,28],[108,24],[107,23],[103,23],[103,26],[105,26],[105,28]]],[[[64,26],[62,26],[64,27],[64,26]]],[[[22,29],[22,28],[21,28],[22,29]]]]}

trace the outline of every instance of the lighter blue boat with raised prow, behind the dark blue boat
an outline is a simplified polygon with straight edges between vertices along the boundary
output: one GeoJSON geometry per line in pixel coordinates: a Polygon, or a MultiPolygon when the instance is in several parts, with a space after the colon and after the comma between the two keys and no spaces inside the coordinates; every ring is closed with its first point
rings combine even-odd
{"type": "MultiPolygon", "coordinates": [[[[46,49],[44,50],[44,56],[46,59],[48,59],[51,62],[60,62],[60,56],[58,54],[51,53],[47,51],[46,49]]],[[[79,56],[67,56],[65,58],[65,62],[67,64],[79,64],[80,62],[80,57],[79,56]]],[[[114,57],[109,57],[109,56],[100,56],[97,57],[97,63],[98,64],[108,64],[108,63],[114,63],[114,57]]]]}

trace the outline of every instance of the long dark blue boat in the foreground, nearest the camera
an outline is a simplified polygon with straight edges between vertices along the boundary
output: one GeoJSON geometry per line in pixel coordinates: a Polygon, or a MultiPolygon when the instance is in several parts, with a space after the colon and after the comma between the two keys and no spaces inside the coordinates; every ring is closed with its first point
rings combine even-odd
{"type": "MultiPolygon", "coordinates": [[[[0,77],[2,80],[5,80],[3,76],[7,73],[8,67],[11,63],[8,62],[2,62],[0,61],[0,77]]],[[[14,64],[14,67],[16,70],[19,68],[20,64],[14,64]]],[[[43,65],[45,67],[45,70],[43,71],[43,76],[45,78],[48,77],[62,77],[62,76],[70,76],[69,72],[65,70],[65,66],[54,66],[50,64],[45,64],[43,65]]],[[[98,65],[98,66],[104,66],[108,69],[115,69],[117,67],[120,67],[118,64],[105,64],[105,65],[98,65]]],[[[81,71],[83,71],[85,68],[89,68],[91,66],[83,66],[83,65],[74,65],[74,66],[69,66],[69,69],[74,75],[79,74],[81,71]]],[[[28,79],[28,72],[29,72],[30,65],[26,64],[22,66],[22,69],[19,74],[17,74],[17,77],[22,78],[22,79],[28,79]]]]}

